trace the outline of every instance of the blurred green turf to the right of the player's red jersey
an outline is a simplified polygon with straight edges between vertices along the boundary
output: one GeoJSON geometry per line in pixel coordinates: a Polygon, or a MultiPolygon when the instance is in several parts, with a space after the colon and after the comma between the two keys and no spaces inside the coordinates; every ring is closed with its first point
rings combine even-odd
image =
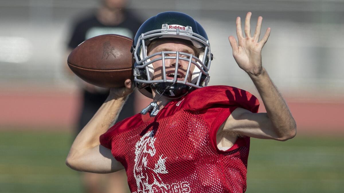
{"type": "Polygon", "coordinates": [[[251,139],[247,192],[343,192],[343,137],[251,139]]]}

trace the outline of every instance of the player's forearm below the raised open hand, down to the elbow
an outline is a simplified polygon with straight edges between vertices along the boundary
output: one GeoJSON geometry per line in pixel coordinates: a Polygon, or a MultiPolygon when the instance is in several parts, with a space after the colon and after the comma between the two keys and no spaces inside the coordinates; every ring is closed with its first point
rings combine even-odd
{"type": "Polygon", "coordinates": [[[279,138],[292,138],[296,134],[296,123],[291,112],[267,71],[263,68],[258,76],[249,74],[263,102],[272,128],[279,138]]]}

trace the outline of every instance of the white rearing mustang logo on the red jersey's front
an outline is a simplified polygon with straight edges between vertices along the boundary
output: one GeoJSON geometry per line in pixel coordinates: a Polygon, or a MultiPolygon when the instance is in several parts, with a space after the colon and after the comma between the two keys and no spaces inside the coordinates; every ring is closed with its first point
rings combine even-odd
{"type": "Polygon", "coordinates": [[[156,138],[153,135],[153,131],[146,133],[135,145],[134,177],[136,179],[138,193],[168,191],[168,187],[162,182],[159,176],[159,174],[168,173],[165,166],[166,158],[162,158],[163,155],[160,155],[154,168],[147,166],[147,163],[152,160],[151,158],[156,152],[154,147],[156,138]]]}

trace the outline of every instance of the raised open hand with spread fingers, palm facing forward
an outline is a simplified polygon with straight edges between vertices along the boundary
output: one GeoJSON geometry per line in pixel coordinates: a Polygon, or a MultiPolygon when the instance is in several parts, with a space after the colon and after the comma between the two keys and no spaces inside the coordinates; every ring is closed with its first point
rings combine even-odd
{"type": "Polygon", "coordinates": [[[261,22],[263,18],[258,17],[256,31],[253,37],[251,37],[250,19],[251,12],[248,12],[245,19],[245,36],[241,30],[241,20],[237,17],[236,20],[236,32],[238,36],[239,45],[234,36],[229,36],[230,46],[233,49],[233,56],[238,66],[245,70],[249,75],[258,76],[262,71],[261,66],[261,50],[269,38],[270,27],[265,32],[264,37],[259,42],[261,22]]]}

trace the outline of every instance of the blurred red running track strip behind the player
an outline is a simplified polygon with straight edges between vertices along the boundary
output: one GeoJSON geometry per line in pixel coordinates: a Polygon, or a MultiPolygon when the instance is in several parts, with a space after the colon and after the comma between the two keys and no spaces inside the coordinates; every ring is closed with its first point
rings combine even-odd
{"type": "MultiPolygon", "coordinates": [[[[150,99],[138,94],[137,112],[150,99]]],[[[70,129],[79,110],[77,91],[2,91],[0,92],[0,129],[70,129]]],[[[343,100],[325,102],[321,99],[301,101],[287,98],[288,106],[301,133],[344,133],[343,100]]],[[[261,105],[260,112],[265,112],[261,105]]]]}

